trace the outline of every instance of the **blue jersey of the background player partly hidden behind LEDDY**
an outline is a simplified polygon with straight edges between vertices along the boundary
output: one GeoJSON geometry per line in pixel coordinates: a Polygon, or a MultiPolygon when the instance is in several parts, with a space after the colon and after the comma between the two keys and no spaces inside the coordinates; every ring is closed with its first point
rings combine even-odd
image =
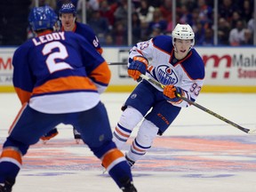
{"type": "MultiPolygon", "coordinates": [[[[64,28],[61,28],[62,31],[64,31],[64,28]]],[[[75,22],[75,28],[73,29],[73,32],[84,36],[87,41],[92,44],[92,46],[102,54],[103,50],[100,46],[99,39],[95,35],[94,31],[89,25],[86,25],[84,23],[75,22]]]]}

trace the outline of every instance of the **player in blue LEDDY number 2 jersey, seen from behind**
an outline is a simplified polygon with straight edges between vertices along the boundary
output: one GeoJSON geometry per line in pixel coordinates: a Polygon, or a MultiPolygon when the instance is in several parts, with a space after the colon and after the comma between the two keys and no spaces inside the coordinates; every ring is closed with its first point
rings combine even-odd
{"type": "Polygon", "coordinates": [[[49,6],[33,8],[29,24],[37,37],[13,55],[13,85],[22,108],[0,155],[0,192],[12,191],[29,146],[60,123],[76,125],[117,186],[136,192],[131,168],[112,141],[108,114],[100,102],[110,81],[108,63],[83,36],[53,32],[56,16],[49,6]]]}

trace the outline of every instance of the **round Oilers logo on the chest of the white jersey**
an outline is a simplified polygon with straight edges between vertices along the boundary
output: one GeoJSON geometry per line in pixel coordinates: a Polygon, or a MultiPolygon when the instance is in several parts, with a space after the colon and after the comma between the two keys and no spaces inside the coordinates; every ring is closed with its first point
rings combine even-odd
{"type": "Polygon", "coordinates": [[[178,76],[173,68],[167,65],[159,65],[156,68],[156,76],[161,84],[177,84],[178,76]]]}

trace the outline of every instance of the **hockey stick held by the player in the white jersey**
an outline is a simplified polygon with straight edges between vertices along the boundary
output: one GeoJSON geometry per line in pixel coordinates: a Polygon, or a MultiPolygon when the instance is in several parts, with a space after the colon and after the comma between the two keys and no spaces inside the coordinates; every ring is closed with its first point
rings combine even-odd
{"type": "MultiPolygon", "coordinates": [[[[140,75],[141,78],[147,80],[148,82],[152,83],[152,84],[155,84],[156,86],[158,86],[159,88],[161,89],[164,89],[164,84],[160,84],[159,82],[157,82],[155,79],[152,79],[148,76],[145,76],[143,74],[140,75]]],[[[231,124],[233,125],[234,127],[236,127],[237,129],[241,130],[242,132],[246,132],[248,134],[256,134],[256,130],[250,130],[250,129],[246,129],[242,126],[240,126],[239,124],[235,124],[234,122],[228,120],[227,118],[223,117],[223,116],[220,116],[219,114],[213,112],[212,110],[208,109],[208,108],[204,108],[203,106],[199,105],[198,103],[192,101],[192,100],[188,100],[186,97],[183,97],[182,95],[180,95],[179,93],[176,93],[176,96],[179,97],[181,100],[185,100],[187,101],[190,105],[193,105],[195,106],[196,108],[200,108],[201,110],[203,110],[204,112],[212,115],[212,116],[215,116],[217,118],[219,118],[221,121],[224,121],[226,122],[227,124],[231,124]]]]}

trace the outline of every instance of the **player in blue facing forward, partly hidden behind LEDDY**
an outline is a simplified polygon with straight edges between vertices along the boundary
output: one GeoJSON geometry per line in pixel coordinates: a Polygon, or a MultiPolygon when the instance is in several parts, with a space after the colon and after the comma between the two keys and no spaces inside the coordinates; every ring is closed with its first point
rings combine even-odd
{"type": "MultiPolygon", "coordinates": [[[[60,21],[61,21],[61,31],[72,31],[81,36],[84,36],[90,44],[102,54],[103,50],[100,46],[100,42],[93,32],[92,28],[89,25],[80,23],[76,21],[76,7],[72,3],[62,4],[59,11],[60,21]]],[[[74,138],[76,143],[79,143],[81,139],[81,134],[77,132],[76,128],[73,127],[74,138]]],[[[50,132],[47,132],[41,140],[44,140],[44,143],[47,140],[51,140],[58,134],[57,128],[52,129],[50,132]]]]}

